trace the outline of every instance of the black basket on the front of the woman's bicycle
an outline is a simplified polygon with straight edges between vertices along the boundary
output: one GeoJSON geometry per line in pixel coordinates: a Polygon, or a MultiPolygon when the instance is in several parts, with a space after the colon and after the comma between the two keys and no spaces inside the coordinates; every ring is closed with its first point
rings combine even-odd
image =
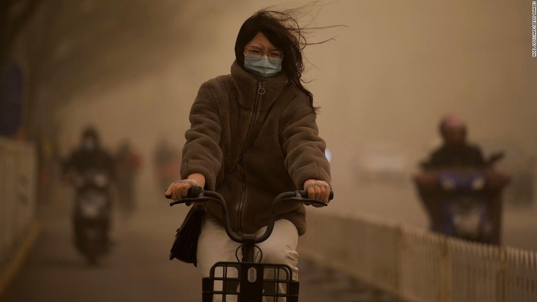
{"type": "Polygon", "coordinates": [[[210,276],[203,278],[201,289],[203,302],[213,302],[213,298],[222,302],[261,302],[263,297],[278,302],[299,300],[299,282],[293,281],[291,268],[284,264],[217,262],[210,276]]]}

